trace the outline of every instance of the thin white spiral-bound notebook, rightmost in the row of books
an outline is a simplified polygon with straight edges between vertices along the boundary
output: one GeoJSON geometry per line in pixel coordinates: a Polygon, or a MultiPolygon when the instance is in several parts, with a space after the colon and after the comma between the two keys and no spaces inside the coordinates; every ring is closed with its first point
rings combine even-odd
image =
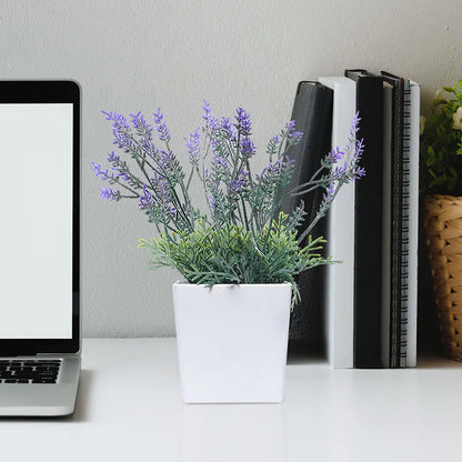
{"type": "Polygon", "coordinates": [[[419,139],[420,87],[409,81],[409,267],[406,366],[416,365],[418,344],[418,243],[419,243],[419,139]]]}

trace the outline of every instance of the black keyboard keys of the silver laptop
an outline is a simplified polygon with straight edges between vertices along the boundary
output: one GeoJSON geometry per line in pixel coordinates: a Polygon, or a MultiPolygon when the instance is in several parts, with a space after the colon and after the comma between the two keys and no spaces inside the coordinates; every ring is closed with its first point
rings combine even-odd
{"type": "Polygon", "coordinates": [[[62,360],[0,360],[0,383],[57,383],[62,360]]]}

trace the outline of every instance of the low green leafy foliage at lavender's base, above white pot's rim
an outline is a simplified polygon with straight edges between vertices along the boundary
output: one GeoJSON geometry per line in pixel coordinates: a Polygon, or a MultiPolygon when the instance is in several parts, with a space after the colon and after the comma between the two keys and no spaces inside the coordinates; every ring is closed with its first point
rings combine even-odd
{"type": "Polygon", "coordinates": [[[151,241],[140,240],[152,254],[153,268],[177,269],[195,284],[258,284],[291,282],[293,302],[299,299],[294,275],[320,264],[332,263],[319,251],[325,241],[312,240],[301,248],[297,231],[285,227],[288,215],[280,213],[257,235],[243,227],[224,223],[213,228],[200,220],[195,231],[175,231],[151,241]]]}

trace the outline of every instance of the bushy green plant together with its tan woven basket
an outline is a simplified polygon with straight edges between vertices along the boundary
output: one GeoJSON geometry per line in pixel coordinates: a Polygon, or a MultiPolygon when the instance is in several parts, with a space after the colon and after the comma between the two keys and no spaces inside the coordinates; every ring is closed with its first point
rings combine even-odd
{"type": "Polygon", "coordinates": [[[462,79],[436,92],[421,121],[423,228],[441,344],[462,361],[462,79]]]}

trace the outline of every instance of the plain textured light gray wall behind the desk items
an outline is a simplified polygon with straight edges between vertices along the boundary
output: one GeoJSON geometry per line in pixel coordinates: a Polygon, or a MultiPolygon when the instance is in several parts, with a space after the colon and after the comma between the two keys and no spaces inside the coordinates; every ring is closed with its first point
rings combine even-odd
{"type": "Polygon", "coordinates": [[[297,82],[344,68],[416,80],[425,109],[436,88],[462,78],[460,11],[459,0],[0,0],[0,79],[82,87],[83,334],[174,334],[177,274],[149,271],[137,249],[152,227],[134,202],[99,199],[90,163],[112,150],[100,110],[161,107],[181,153],[203,98],[218,116],[248,109],[264,152],[290,118],[297,82]]]}

